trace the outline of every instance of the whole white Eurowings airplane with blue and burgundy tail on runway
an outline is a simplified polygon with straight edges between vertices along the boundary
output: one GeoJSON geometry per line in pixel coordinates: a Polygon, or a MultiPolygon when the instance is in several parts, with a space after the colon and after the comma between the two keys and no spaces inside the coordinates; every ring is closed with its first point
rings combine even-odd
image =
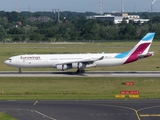
{"type": "Polygon", "coordinates": [[[18,68],[19,73],[21,68],[57,68],[61,71],[76,68],[76,73],[83,74],[84,68],[124,65],[153,56],[154,52],[148,51],[154,36],[153,32],[147,33],[131,50],[122,53],[18,55],[4,63],[18,68]]]}

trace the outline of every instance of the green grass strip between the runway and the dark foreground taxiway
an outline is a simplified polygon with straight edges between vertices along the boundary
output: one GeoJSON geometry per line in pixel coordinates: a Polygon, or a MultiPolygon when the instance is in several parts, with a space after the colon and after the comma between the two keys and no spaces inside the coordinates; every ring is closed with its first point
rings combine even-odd
{"type": "Polygon", "coordinates": [[[159,78],[1,78],[0,99],[114,99],[121,90],[138,90],[140,98],[159,98],[159,85],[159,78]],[[122,85],[126,81],[135,85],[122,85]]]}

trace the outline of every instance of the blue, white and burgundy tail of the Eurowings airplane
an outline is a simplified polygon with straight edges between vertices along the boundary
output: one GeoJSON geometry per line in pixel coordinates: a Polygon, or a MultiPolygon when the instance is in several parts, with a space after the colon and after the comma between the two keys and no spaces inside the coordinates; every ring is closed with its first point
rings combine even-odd
{"type": "Polygon", "coordinates": [[[153,52],[148,52],[153,41],[155,33],[147,33],[138,43],[136,46],[132,48],[132,50],[121,53],[116,56],[116,58],[124,58],[126,57],[126,63],[130,63],[136,61],[140,58],[145,58],[153,55],[153,52]]]}

